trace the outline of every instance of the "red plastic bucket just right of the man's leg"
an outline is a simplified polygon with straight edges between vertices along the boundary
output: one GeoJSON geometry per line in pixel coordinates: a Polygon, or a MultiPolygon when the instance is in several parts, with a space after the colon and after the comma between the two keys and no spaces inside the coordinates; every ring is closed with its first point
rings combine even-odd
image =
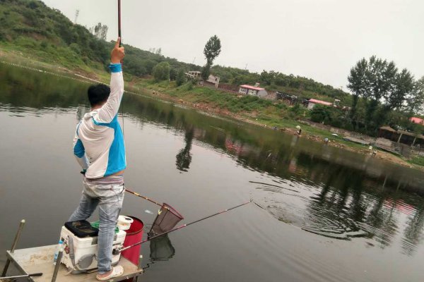
{"type": "MultiPolygon", "coordinates": [[[[135,243],[139,243],[143,239],[143,227],[144,227],[143,221],[141,221],[140,219],[137,219],[134,216],[129,216],[129,217],[131,217],[131,219],[134,219],[134,222],[131,223],[131,226],[126,231],[124,247],[128,247],[129,245],[134,245],[135,243]]],[[[128,250],[124,250],[124,252],[122,252],[122,255],[133,264],[138,265],[139,257],[140,257],[140,249],[141,249],[141,244],[136,245],[134,247],[130,247],[128,250]]]]}

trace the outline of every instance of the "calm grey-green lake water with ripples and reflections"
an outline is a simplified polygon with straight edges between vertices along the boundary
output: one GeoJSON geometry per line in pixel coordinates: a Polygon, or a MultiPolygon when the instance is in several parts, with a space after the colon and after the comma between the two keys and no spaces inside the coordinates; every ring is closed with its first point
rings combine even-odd
{"type": "MultiPolygon", "coordinates": [[[[72,138],[87,87],[0,64],[0,268],[20,219],[18,247],[51,245],[78,204],[72,138]]],[[[128,188],[185,223],[255,203],[143,245],[143,281],[424,280],[423,173],[145,97],[123,103],[128,188]]],[[[123,214],[148,228],[146,209],[126,195],[123,214]]]]}

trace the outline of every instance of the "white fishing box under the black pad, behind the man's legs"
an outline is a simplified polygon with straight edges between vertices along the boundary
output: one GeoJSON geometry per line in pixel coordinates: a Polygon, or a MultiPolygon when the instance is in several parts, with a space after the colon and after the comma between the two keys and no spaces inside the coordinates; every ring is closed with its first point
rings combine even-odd
{"type": "MultiPolygon", "coordinates": [[[[125,240],[125,231],[119,230],[115,233],[113,248],[122,247],[125,240]]],[[[97,269],[98,237],[78,238],[68,228],[62,226],[61,239],[64,241],[64,254],[61,260],[62,264],[71,271],[72,274],[89,272],[97,269]]],[[[119,255],[112,255],[112,265],[119,262],[119,255]]]]}

